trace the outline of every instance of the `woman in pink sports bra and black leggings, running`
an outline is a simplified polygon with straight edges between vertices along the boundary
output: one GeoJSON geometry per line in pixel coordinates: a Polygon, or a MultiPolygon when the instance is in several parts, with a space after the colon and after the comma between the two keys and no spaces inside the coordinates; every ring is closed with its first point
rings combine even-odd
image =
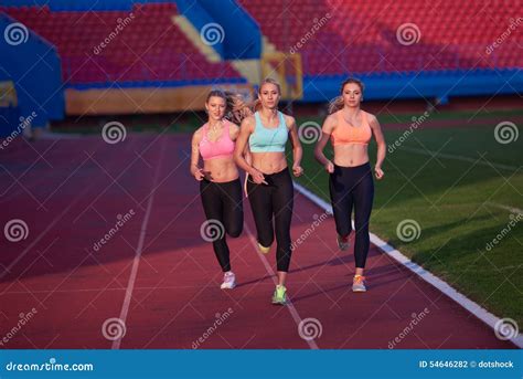
{"type": "Polygon", "coordinates": [[[200,181],[200,194],[207,218],[201,228],[202,238],[213,242],[214,253],[224,272],[222,289],[236,286],[231,270],[230,250],[225,234],[236,238],[242,233],[244,212],[242,185],[233,160],[237,125],[225,114],[241,122],[248,107],[235,94],[211,91],[205,102],[209,120],[192,137],[191,175],[200,181]],[[245,109],[244,109],[245,108],[245,109]],[[200,166],[200,157],[203,167],[200,166]]]}

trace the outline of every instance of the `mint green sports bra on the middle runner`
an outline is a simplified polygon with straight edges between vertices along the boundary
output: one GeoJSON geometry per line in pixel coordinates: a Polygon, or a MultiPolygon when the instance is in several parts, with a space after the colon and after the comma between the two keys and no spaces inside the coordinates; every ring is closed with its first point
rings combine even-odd
{"type": "Polygon", "coordinates": [[[284,152],[285,145],[289,138],[289,130],[285,124],[285,117],[278,112],[279,124],[277,128],[267,128],[262,124],[259,113],[254,114],[256,120],[254,133],[248,138],[250,151],[253,152],[284,152]]]}

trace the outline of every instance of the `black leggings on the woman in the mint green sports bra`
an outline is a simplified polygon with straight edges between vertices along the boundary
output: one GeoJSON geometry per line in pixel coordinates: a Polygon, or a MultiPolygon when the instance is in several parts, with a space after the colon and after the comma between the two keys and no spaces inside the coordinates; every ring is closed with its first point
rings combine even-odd
{"type": "Polygon", "coordinates": [[[268,248],[276,230],[276,262],[278,271],[288,272],[290,264],[290,221],[292,219],[293,186],[289,170],[264,173],[267,185],[256,185],[248,178],[247,193],[253,210],[258,242],[268,248]],[[275,227],[273,228],[273,217],[275,227]]]}

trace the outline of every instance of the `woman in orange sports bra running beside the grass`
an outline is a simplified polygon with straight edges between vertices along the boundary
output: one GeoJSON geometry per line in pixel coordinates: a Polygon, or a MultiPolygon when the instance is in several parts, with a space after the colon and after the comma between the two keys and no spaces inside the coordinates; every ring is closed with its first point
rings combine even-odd
{"type": "Polygon", "coordinates": [[[356,272],[352,291],[365,292],[365,269],[369,254],[369,220],[374,199],[374,182],[369,162],[369,143],[374,136],[377,144],[377,159],[374,166],[376,179],[382,179],[382,164],[386,144],[380,123],[374,115],[360,108],[363,99],[363,83],[349,78],[341,85],[341,95],[330,105],[329,116],[323,123],[322,136],[314,148],[316,159],[330,173],[329,190],[338,232],[340,250],[349,249],[352,231],[351,213],[354,207],[355,242],[354,259],[356,272]],[[323,149],[331,140],[334,156],[329,160],[323,149]]]}

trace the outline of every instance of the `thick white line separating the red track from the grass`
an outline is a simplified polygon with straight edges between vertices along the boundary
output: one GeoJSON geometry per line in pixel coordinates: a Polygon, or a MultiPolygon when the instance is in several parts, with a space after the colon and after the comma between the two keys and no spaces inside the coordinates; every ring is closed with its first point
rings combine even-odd
{"type": "MultiPolygon", "coordinates": [[[[295,182],[295,189],[298,192],[303,193],[302,192],[303,187],[298,185],[297,182],[295,182]]],[[[306,197],[308,197],[308,196],[306,196],[306,197]]],[[[317,196],[314,196],[314,197],[318,198],[317,196]]],[[[328,212],[329,209],[324,207],[327,204],[327,202],[325,201],[317,202],[317,201],[314,201],[314,197],[308,197],[308,199],[310,199],[318,207],[320,207],[325,212],[328,212]]],[[[394,249],[393,246],[391,246],[388,243],[386,243],[385,241],[380,239],[376,234],[370,233],[370,235],[371,235],[371,242],[373,244],[375,244],[381,251],[383,251],[388,256],[393,257],[396,262],[401,263],[403,266],[410,270],[413,273],[418,275],[425,282],[427,282],[427,283],[431,284],[433,286],[435,286],[436,288],[438,288],[445,295],[447,295],[448,297],[453,299],[456,303],[458,303],[463,308],[469,310],[472,315],[474,315],[476,317],[481,319],[483,323],[485,323],[488,326],[490,326],[492,328],[492,330],[495,330],[495,325],[497,325],[498,322],[501,323],[500,317],[494,316],[493,314],[491,314],[489,310],[487,310],[485,308],[483,308],[479,304],[472,302],[470,298],[468,298],[463,294],[456,291],[447,282],[441,281],[439,277],[435,276],[434,274],[429,273],[428,271],[426,271],[425,269],[423,269],[418,264],[410,261],[401,251],[398,251],[397,249],[394,249]]],[[[511,338],[510,340],[514,345],[516,345],[519,348],[523,348],[523,334],[522,333],[520,333],[514,338],[511,338]]]]}

